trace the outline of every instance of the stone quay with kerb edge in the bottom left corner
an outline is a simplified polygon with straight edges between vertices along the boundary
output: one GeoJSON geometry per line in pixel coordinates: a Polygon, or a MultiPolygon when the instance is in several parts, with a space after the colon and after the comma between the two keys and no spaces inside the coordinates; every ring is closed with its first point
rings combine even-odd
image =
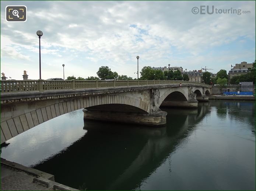
{"type": "Polygon", "coordinates": [[[1,158],[1,190],[77,190],[54,181],[54,175],[1,158]]]}

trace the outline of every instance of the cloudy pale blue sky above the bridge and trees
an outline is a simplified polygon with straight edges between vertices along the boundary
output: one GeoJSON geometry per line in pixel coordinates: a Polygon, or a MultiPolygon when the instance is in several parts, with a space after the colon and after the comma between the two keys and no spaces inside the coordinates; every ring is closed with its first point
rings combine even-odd
{"type": "MultiPolygon", "coordinates": [[[[203,11],[203,10],[202,10],[203,11]]],[[[204,12],[204,11],[203,11],[204,12]]],[[[137,77],[143,66],[216,73],[255,60],[255,1],[1,1],[1,72],[39,78],[97,76],[101,66],[137,77]],[[6,22],[7,5],[26,5],[27,22],[6,22]],[[209,5],[213,14],[193,14],[209,5]],[[217,13],[215,9],[217,8],[217,13]],[[220,14],[241,9],[250,13],[220,14]]]]}

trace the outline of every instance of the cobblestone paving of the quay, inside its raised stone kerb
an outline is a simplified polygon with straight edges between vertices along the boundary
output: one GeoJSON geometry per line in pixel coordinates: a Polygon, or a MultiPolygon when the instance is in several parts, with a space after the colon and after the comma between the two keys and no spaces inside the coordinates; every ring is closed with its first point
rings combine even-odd
{"type": "Polygon", "coordinates": [[[43,184],[33,183],[35,176],[1,165],[1,190],[53,190],[43,184]]]}

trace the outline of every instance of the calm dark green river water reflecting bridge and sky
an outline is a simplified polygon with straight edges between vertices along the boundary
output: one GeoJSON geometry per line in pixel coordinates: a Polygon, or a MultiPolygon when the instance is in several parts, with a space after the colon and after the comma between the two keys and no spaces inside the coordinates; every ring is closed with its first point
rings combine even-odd
{"type": "Polygon", "coordinates": [[[1,157],[80,190],[255,190],[255,102],[162,110],[161,128],[73,111],[10,139],[1,157]]]}

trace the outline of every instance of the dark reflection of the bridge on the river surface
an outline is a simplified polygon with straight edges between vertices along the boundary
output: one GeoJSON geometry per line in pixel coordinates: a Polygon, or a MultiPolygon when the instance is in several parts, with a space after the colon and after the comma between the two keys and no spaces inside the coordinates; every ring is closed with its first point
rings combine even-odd
{"type": "Polygon", "coordinates": [[[201,103],[196,110],[164,108],[175,117],[167,118],[167,126],[162,128],[131,129],[129,125],[86,121],[84,137],[35,168],[74,188],[85,183],[88,190],[134,189],[190,135],[210,112],[208,104],[201,103]],[[79,169],[76,175],[69,175],[74,168],[79,169]]]}

